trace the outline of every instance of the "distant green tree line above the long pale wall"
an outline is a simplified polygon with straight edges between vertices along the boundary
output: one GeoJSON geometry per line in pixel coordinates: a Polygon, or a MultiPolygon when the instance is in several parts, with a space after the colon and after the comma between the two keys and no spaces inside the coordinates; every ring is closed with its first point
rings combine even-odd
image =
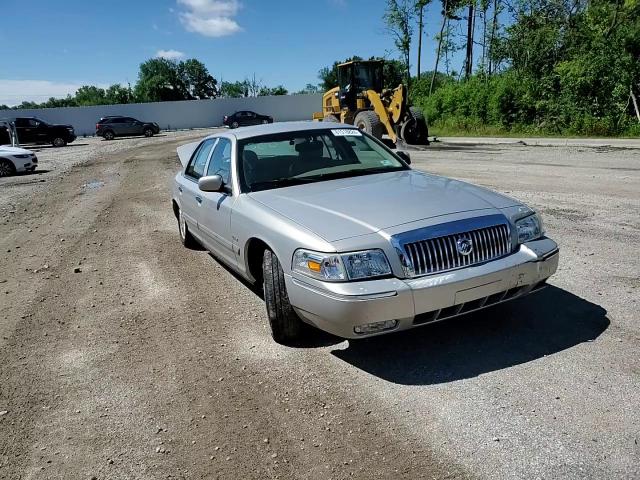
{"type": "MultiPolygon", "coordinates": [[[[316,91],[317,86],[309,84],[295,93],[315,93],[316,91]]],[[[288,94],[289,91],[284,86],[269,87],[255,75],[241,81],[219,82],[209,73],[207,67],[195,58],[179,62],[152,58],[140,64],[138,81],[133,87],[121,84],[114,84],[108,88],[85,85],[75,94],[67,95],[65,98],[51,97],[42,103],[25,101],[13,107],[0,105],[0,109],[82,107],[288,94]]]]}

